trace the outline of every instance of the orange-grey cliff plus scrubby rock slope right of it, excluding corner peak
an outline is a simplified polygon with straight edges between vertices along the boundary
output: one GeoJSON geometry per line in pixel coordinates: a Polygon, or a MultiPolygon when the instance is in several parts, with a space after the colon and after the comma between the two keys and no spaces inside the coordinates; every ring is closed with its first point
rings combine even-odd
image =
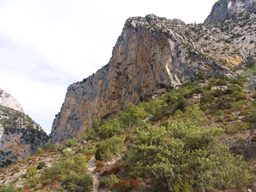
{"type": "Polygon", "coordinates": [[[148,101],[200,72],[237,78],[232,67],[256,60],[256,20],[253,15],[242,16],[206,24],[185,24],[154,14],[127,19],[110,62],[68,87],[51,141],[75,138],[94,119],[107,120],[127,104],[148,101]]]}

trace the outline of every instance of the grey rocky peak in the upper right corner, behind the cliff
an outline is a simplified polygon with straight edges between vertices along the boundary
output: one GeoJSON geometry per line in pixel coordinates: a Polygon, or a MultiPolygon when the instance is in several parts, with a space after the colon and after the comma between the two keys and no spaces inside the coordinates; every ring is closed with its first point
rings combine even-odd
{"type": "Polygon", "coordinates": [[[256,18],[256,0],[219,0],[204,23],[256,18]]]}

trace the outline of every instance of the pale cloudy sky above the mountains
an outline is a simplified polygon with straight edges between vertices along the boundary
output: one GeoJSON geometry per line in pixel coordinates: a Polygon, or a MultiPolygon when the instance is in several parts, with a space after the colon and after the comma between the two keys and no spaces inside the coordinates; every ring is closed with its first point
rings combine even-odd
{"type": "Polygon", "coordinates": [[[129,17],[203,23],[217,0],[0,0],[0,88],[49,134],[67,87],[106,65],[129,17]]]}

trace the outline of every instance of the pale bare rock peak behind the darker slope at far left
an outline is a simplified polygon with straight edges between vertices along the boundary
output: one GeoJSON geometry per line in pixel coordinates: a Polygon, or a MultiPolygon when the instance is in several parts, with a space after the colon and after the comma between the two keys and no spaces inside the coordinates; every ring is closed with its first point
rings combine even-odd
{"type": "Polygon", "coordinates": [[[14,110],[24,113],[24,110],[21,108],[21,105],[19,104],[19,102],[13,96],[6,93],[1,88],[0,88],[0,105],[7,108],[13,108],[14,110]]]}

